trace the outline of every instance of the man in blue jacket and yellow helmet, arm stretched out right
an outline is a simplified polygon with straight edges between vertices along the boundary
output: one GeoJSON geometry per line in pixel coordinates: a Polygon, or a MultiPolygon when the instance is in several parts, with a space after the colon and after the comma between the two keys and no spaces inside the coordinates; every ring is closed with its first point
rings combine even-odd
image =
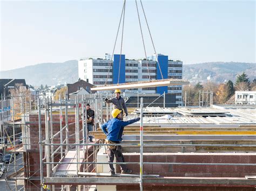
{"type": "MultiPolygon", "coordinates": [[[[134,118],[129,121],[123,121],[121,116],[121,110],[114,109],[112,111],[112,119],[107,121],[102,125],[102,131],[106,135],[106,144],[120,144],[122,142],[122,136],[124,127],[126,125],[130,125],[132,123],[138,122],[140,118],[134,118]]],[[[124,156],[122,153],[122,147],[121,146],[114,146],[109,145],[107,146],[107,155],[109,155],[109,162],[114,161],[114,156],[116,156],[116,159],[118,162],[124,162],[124,156]]],[[[113,164],[109,164],[110,167],[110,173],[111,175],[114,175],[114,167],[113,164]]],[[[127,169],[126,165],[120,164],[121,167],[121,173],[123,174],[130,174],[132,173],[132,170],[127,169]]]]}

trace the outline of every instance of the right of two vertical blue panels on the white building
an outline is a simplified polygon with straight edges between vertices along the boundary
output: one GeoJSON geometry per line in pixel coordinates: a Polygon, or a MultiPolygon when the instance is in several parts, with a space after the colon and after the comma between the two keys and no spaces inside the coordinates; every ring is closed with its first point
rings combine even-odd
{"type": "MultiPolygon", "coordinates": [[[[158,55],[158,62],[160,63],[161,67],[161,72],[163,74],[164,79],[168,78],[168,56],[166,55],[158,55]]],[[[157,80],[161,80],[161,73],[159,66],[157,64],[157,80]]],[[[163,87],[157,87],[157,94],[163,94],[163,93],[168,93],[168,87],[163,86],[163,87]]]]}

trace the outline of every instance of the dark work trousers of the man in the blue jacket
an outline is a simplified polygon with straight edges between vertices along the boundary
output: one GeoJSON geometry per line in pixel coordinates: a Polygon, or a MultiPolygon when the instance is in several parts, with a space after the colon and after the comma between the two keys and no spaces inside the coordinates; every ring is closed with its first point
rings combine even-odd
{"type": "MultiPolygon", "coordinates": [[[[114,156],[116,156],[117,162],[124,162],[124,155],[122,153],[122,147],[117,146],[116,148],[107,148],[107,155],[109,155],[109,162],[114,161],[114,156]]],[[[110,171],[114,172],[113,164],[109,164],[110,171]]],[[[127,167],[124,164],[120,164],[121,170],[126,171],[127,167]]]]}

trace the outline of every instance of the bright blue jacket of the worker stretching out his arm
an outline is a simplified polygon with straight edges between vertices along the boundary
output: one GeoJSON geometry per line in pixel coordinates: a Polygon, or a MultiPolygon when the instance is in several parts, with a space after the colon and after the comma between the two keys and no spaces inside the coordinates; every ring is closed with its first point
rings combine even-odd
{"type": "Polygon", "coordinates": [[[122,135],[124,127],[132,123],[138,122],[140,118],[134,118],[129,121],[123,121],[118,118],[113,118],[102,125],[102,131],[106,135],[107,140],[112,140],[113,142],[122,141],[122,135]]]}

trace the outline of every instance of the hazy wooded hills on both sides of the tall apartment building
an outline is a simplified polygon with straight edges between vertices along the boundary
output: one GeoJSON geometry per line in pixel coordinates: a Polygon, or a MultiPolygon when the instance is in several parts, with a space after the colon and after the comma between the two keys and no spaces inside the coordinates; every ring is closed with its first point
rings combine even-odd
{"type": "MultiPolygon", "coordinates": [[[[256,78],[256,63],[244,62],[205,62],[183,65],[183,78],[191,83],[235,82],[237,74],[245,72],[250,80],[256,78]]],[[[69,60],[62,63],[39,63],[33,66],[0,72],[0,78],[25,79],[27,84],[48,86],[73,83],[78,80],[78,61],[69,60]]]]}

